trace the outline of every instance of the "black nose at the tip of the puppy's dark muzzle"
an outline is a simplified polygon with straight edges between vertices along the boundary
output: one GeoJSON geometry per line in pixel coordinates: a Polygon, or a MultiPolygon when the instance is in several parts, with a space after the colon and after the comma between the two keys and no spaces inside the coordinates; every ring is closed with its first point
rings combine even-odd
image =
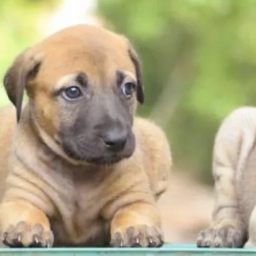
{"type": "Polygon", "coordinates": [[[109,150],[118,152],[123,150],[125,147],[125,143],[127,141],[127,132],[108,131],[106,134],[104,134],[102,139],[109,150]]]}

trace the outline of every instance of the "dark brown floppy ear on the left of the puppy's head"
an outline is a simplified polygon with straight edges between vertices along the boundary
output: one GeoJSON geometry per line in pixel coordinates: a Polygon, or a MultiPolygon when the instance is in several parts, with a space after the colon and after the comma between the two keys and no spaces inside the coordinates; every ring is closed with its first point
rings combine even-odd
{"type": "Polygon", "coordinates": [[[16,107],[17,122],[20,120],[24,90],[30,79],[36,77],[42,63],[42,55],[34,55],[27,49],[8,68],[4,76],[4,88],[16,107]]]}

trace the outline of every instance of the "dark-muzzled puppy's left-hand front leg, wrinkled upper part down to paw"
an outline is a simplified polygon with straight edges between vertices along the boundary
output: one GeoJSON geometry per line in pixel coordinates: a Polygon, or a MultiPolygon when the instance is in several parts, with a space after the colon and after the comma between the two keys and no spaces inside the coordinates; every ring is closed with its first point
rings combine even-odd
{"type": "Polygon", "coordinates": [[[44,193],[51,188],[13,156],[10,170],[0,204],[2,243],[11,247],[52,246],[53,234],[45,212],[50,216],[54,206],[44,193]]]}

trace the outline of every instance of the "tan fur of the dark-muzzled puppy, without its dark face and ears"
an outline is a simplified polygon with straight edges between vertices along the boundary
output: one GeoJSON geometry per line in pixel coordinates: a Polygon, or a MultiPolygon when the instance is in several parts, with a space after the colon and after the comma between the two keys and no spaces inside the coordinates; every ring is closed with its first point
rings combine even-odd
{"type": "MultiPolygon", "coordinates": [[[[25,237],[24,246],[31,243],[38,224],[43,246],[52,245],[51,230],[54,246],[102,246],[118,232],[125,236],[131,227],[136,234],[154,230],[157,236],[161,234],[156,202],[166,190],[172,159],[168,141],[157,125],[135,118],[134,154],[109,166],[74,161],[53,140],[58,106],[49,92],[51,86],[58,86],[60,77],[83,67],[94,81],[110,86],[116,65],[135,77],[122,36],[86,26],[88,47],[84,48],[79,44],[83,29],[67,29],[29,50],[29,56],[41,54],[38,58],[44,58],[45,52],[47,56],[38,76],[28,84],[29,102],[19,125],[15,126],[13,107],[0,111],[1,188],[8,176],[1,196],[0,227],[2,234],[18,229],[25,237]],[[97,57],[92,56],[94,47],[97,51],[102,47],[100,66],[93,62],[97,57]],[[76,54],[70,56],[71,49],[76,54]]],[[[135,112],[136,102],[131,108],[135,112]]],[[[148,236],[156,236],[153,233],[148,236]]],[[[141,244],[148,246],[147,236],[143,239],[141,244]]]]}

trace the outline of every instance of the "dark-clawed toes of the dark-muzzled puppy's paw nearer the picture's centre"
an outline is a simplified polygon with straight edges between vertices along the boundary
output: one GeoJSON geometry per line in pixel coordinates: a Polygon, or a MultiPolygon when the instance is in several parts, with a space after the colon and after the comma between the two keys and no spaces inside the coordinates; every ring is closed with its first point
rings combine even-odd
{"type": "Polygon", "coordinates": [[[110,242],[113,247],[160,247],[163,243],[162,231],[146,225],[121,228],[113,234],[110,242]]]}

